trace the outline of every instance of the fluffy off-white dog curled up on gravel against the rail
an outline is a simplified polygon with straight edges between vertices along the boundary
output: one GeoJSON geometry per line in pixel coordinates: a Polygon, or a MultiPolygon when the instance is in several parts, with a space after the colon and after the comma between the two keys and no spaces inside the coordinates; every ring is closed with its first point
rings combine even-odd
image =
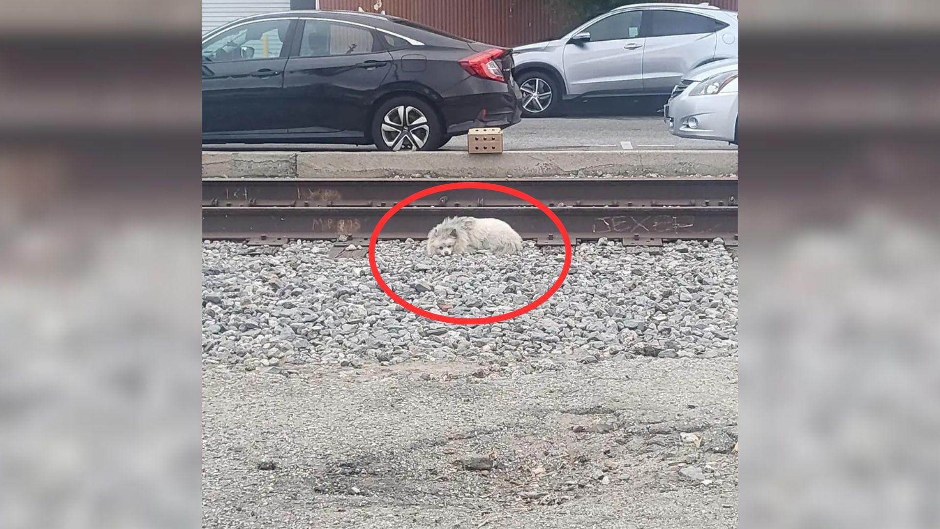
{"type": "Polygon", "coordinates": [[[428,255],[460,255],[478,250],[506,255],[522,249],[523,238],[498,218],[448,217],[428,232],[428,255]]]}

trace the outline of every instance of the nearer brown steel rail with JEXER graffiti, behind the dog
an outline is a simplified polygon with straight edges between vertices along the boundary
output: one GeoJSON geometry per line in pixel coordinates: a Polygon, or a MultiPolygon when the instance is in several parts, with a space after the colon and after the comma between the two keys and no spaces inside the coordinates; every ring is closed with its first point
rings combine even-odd
{"type": "MultiPolygon", "coordinates": [[[[582,181],[583,182],[583,181],[582,181]]],[[[601,237],[656,244],[672,239],[723,237],[734,244],[738,208],[729,206],[564,206],[551,208],[572,242],[601,237]]],[[[204,239],[327,239],[345,235],[368,239],[387,208],[383,207],[227,207],[202,208],[204,239]]],[[[407,206],[385,224],[382,239],[420,239],[445,216],[498,217],[526,239],[560,244],[556,225],[535,207],[407,206]]]]}

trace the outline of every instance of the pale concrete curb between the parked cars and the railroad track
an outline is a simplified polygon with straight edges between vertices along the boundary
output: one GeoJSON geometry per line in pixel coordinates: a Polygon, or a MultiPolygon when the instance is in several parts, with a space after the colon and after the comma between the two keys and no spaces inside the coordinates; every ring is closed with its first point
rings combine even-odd
{"type": "Polygon", "coordinates": [[[203,178],[506,178],[738,173],[737,151],[203,152],[203,178]]]}

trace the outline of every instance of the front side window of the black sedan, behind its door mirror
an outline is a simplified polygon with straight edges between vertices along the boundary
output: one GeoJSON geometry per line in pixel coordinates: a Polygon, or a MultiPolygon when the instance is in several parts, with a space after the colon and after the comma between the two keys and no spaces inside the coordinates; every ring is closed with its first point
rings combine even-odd
{"type": "Polygon", "coordinates": [[[219,62],[287,56],[289,20],[237,25],[202,44],[202,60],[219,62]]]}

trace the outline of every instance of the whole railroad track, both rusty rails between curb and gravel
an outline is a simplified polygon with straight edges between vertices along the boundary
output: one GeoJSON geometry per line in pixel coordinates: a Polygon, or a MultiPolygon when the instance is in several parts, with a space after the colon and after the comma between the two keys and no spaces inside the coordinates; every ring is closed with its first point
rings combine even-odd
{"type": "MultiPolygon", "coordinates": [[[[205,239],[278,244],[289,239],[368,240],[399,200],[444,179],[204,179],[205,239]]],[[[551,207],[572,241],[601,237],[657,245],[671,239],[738,236],[736,178],[486,180],[551,207]]],[[[524,200],[487,189],[454,189],[415,200],[393,216],[383,239],[423,238],[445,216],[495,216],[524,238],[562,244],[555,224],[524,200]]]]}

